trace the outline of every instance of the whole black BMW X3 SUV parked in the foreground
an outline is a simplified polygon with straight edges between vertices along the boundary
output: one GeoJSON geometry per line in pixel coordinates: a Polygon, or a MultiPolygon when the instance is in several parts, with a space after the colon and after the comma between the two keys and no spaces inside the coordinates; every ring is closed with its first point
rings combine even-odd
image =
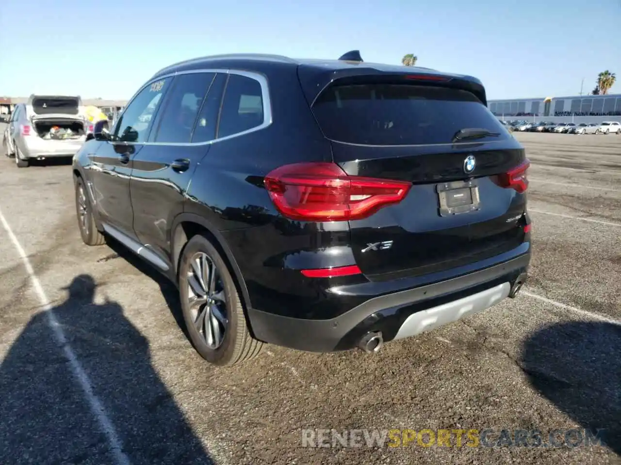
{"type": "Polygon", "coordinates": [[[529,162],[486,104],[478,79],[357,51],[173,64],[76,154],[81,236],[176,283],[211,363],[376,352],[526,280],[529,162]]]}

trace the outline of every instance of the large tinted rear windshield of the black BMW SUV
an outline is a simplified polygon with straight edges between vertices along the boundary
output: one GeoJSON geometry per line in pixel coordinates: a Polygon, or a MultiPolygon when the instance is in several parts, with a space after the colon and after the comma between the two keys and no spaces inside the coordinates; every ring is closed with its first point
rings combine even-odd
{"type": "Polygon", "coordinates": [[[510,137],[474,94],[458,89],[407,84],[332,86],[312,110],[327,138],[351,144],[450,144],[464,128],[501,133],[494,140],[510,137]]]}

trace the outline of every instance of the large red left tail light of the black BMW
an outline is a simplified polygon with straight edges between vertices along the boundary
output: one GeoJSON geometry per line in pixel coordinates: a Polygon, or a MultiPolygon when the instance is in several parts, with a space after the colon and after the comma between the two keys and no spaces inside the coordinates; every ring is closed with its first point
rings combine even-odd
{"type": "Polygon", "coordinates": [[[287,218],[302,221],[347,221],[373,215],[398,203],[412,184],[347,175],[334,163],[296,163],[276,168],[265,188],[287,218]]]}

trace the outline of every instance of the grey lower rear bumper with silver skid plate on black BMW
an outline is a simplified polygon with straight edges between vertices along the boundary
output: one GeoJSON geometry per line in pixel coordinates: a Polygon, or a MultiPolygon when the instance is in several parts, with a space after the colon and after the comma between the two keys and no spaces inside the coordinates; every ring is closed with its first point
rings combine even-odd
{"type": "Polygon", "coordinates": [[[332,319],[301,319],[248,309],[255,337],[309,352],[347,350],[371,331],[385,342],[435,329],[483,311],[527,278],[526,254],[497,265],[408,290],[370,298],[332,319]]]}

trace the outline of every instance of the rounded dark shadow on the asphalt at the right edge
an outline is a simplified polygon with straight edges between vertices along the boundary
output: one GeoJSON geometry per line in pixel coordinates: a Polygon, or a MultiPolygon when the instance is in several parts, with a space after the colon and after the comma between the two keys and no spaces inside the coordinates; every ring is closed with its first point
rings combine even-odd
{"type": "Polygon", "coordinates": [[[522,368],[537,391],[621,454],[621,325],[562,322],[524,342],[522,368]]]}

